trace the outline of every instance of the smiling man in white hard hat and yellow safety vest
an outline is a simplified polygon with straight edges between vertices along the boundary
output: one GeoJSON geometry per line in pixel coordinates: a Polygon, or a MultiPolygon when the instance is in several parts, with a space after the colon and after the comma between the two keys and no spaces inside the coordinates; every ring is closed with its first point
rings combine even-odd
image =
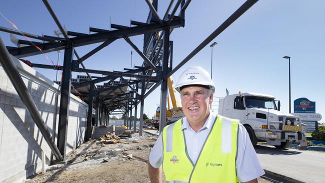
{"type": "Polygon", "coordinates": [[[175,89],[185,117],[163,128],[148,163],[152,183],[257,182],[264,174],[246,129],[209,109],[214,83],[202,67],[187,68],[175,89]]]}

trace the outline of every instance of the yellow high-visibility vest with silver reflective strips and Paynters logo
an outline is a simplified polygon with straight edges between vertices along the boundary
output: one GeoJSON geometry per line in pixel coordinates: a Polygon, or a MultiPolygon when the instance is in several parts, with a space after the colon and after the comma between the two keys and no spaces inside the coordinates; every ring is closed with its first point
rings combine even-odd
{"type": "Polygon", "coordinates": [[[172,182],[238,182],[235,159],[238,120],[218,115],[194,164],[178,120],[162,131],[162,168],[172,182]]]}

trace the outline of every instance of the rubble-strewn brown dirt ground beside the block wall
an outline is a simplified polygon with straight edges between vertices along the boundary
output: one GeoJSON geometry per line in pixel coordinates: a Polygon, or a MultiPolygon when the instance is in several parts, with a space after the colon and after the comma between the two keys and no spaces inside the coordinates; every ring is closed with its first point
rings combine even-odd
{"type": "MultiPolygon", "coordinates": [[[[150,148],[156,137],[146,134],[123,139],[128,144],[96,144],[90,140],[80,145],[75,152],[67,155],[67,163],[48,166],[45,173],[40,173],[24,180],[31,182],[150,182],[147,163],[150,148]],[[123,154],[98,157],[100,150],[120,148],[123,154]]],[[[163,182],[165,182],[163,177],[163,182]]],[[[271,181],[259,178],[258,182],[271,181]]]]}

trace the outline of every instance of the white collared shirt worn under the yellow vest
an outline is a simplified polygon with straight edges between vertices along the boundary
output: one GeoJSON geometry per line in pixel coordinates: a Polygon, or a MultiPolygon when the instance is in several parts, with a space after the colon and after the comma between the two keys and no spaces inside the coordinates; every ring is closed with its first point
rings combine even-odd
{"type": "MultiPolygon", "coordinates": [[[[183,123],[180,130],[184,131],[187,152],[193,163],[197,160],[198,154],[201,151],[205,138],[211,130],[215,117],[216,114],[210,110],[210,114],[204,125],[197,132],[189,126],[186,117],[183,117],[183,123]]],[[[151,166],[155,168],[161,166],[162,153],[162,137],[160,134],[150,151],[149,162],[151,166]]],[[[245,127],[240,123],[238,129],[236,172],[239,181],[249,181],[265,173],[250,142],[249,135],[245,127]]]]}

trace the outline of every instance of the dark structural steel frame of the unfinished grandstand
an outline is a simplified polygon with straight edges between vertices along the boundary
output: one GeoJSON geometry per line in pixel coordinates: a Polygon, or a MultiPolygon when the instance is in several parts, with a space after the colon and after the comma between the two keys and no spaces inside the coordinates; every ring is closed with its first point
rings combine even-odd
{"type": "MultiPolygon", "coordinates": [[[[184,63],[186,63],[191,57],[193,57],[199,50],[206,46],[219,33],[226,29],[257,0],[247,0],[244,2],[231,16],[229,16],[229,18],[227,18],[217,29],[215,29],[206,39],[203,40],[202,43],[200,43],[173,69],[173,42],[169,40],[169,35],[172,32],[173,28],[184,26],[185,9],[191,0],[177,0],[173,8],[171,7],[174,0],[170,0],[170,3],[165,11],[164,16],[162,16],[162,19],[157,13],[157,0],[153,0],[152,3],[150,0],[145,0],[150,9],[146,22],[131,20],[131,26],[123,26],[111,23],[110,26],[114,30],[89,27],[89,34],[64,30],[48,1],[42,1],[64,37],[62,38],[48,35],[39,36],[27,32],[22,33],[27,37],[45,41],[43,43],[33,42],[42,50],[43,53],[64,49],[63,66],[32,63],[34,67],[63,70],[58,121],[58,137],[56,143],[57,147],[53,143],[52,137],[48,131],[46,132],[45,129],[42,130],[41,128],[40,130],[42,135],[45,137],[46,142],[51,147],[56,160],[64,160],[66,152],[66,135],[68,125],[67,118],[69,115],[69,97],[71,90],[72,71],[85,72],[88,78],[88,81],[86,80],[84,82],[73,84],[74,88],[89,87],[88,92],[84,94],[87,97],[88,101],[87,122],[84,136],[85,141],[89,140],[91,137],[91,126],[99,125],[99,123],[108,125],[109,115],[112,114],[123,115],[124,124],[127,125],[129,129],[131,129],[131,116],[133,107],[135,108],[133,122],[135,131],[138,104],[140,104],[139,135],[142,135],[144,98],[161,84],[160,108],[166,108],[167,78],[176,70],[178,70],[184,63]],[[180,10],[176,16],[175,13],[178,8],[180,10]],[[168,14],[170,10],[171,13],[168,14]],[[142,51],[140,51],[129,39],[130,36],[140,34],[144,35],[142,51]],[[106,71],[85,68],[83,61],[119,38],[123,38],[142,57],[143,63],[141,66],[135,66],[134,69],[124,68],[124,71],[106,71]],[[102,43],[81,57],[75,50],[75,47],[98,42],[102,43]],[[75,60],[73,59],[73,54],[76,57],[75,60]],[[99,73],[105,76],[92,77],[89,73],[99,73]],[[133,77],[135,79],[128,80],[123,77],[133,77]],[[112,84],[113,81],[118,78],[120,79],[120,83],[112,84]],[[104,83],[104,85],[100,88],[95,85],[96,83],[105,81],[107,82],[104,83]],[[130,88],[130,90],[123,90],[123,87],[130,88]],[[140,89],[141,92],[138,92],[138,89],[140,89]],[[148,91],[146,91],[147,89],[148,91]],[[119,92],[118,94],[114,93],[116,90],[119,92]],[[94,124],[92,123],[93,106],[95,107],[94,124]]],[[[0,31],[21,35],[21,32],[6,27],[0,27],[0,31]]],[[[26,43],[24,40],[18,40],[18,42],[26,43]]],[[[4,48],[4,44],[2,48],[4,48]]],[[[6,52],[0,52],[0,58],[2,58],[1,62],[4,59],[8,59],[8,53],[16,56],[17,58],[41,54],[41,52],[34,45],[27,45],[23,47],[6,46],[6,49],[6,52]]],[[[4,70],[7,72],[9,68],[4,67],[4,70]]],[[[18,78],[13,79],[12,82],[18,83],[18,78]]],[[[23,88],[17,87],[16,90],[17,92],[19,91],[18,93],[20,93],[23,91],[23,88]]],[[[20,97],[23,98],[23,96],[20,97]]],[[[26,104],[26,106],[29,106],[29,112],[31,115],[36,116],[35,113],[37,113],[37,108],[31,104],[33,103],[32,99],[23,99],[23,102],[26,104]]],[[[36,124],[44,125],[41,117],[33,117],[33,119],[36,124]]],[[[165,122],[165,110],[160,110],[160,131],[165,126],[165,122]]]]}

